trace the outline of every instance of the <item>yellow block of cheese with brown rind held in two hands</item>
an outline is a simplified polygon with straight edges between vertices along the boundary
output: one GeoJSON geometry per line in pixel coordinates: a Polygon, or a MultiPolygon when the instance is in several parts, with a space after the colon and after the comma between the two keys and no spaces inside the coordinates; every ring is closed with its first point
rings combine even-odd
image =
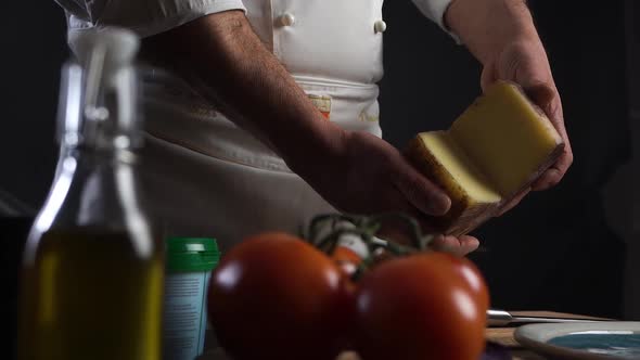
{"type": "Polygon", "coordinates": [[[562,138],[524,92],[499,81],[447,131],[419,133],[405,151],[451,197],[431,219],[443,233],[469,233],[529,187],[562,154],[562,138]]]}

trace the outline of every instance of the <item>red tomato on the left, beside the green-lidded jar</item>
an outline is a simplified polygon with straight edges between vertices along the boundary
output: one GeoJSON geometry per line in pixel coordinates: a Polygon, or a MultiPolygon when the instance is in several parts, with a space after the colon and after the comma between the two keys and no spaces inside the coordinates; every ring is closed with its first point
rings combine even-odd
{"type": "Polygon", "coordinates": [[[335,359],[353,285],[323,253],[284,233],[229,252],[212,274],[208,314],[234,360],[335,359]]]}

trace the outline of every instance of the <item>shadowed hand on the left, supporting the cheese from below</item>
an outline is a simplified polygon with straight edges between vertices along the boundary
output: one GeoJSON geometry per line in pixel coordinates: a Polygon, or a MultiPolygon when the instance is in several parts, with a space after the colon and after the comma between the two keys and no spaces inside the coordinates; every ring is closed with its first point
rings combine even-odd
{"type": "MultiPolygon", "coordinates": [[[[371,215],[401,211],[418,219],[430,232],[425,215],[448,211],[450,198],[422,176],[405,156],[386,141],[370,133],[344,131],[335,156],[299,160],[290,166],[335,208],[345,213],[371,215]]],[[[394,236],[395,229],[386,233],[394,236]]],[[[434,246],[464,255],[477,248],[473,236],[437,236],[434,246]]]]}

